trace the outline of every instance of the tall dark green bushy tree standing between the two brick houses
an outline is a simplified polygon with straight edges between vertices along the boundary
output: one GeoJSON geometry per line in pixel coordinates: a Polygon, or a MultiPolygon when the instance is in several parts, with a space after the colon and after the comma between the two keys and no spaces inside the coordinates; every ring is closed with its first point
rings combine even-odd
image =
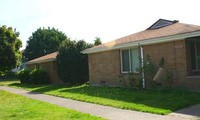
{"type": "Polygon", "coordinates": [[[69,84],[82,84],[88,81],[88,58],[81,51],[92,47],[84,40],[64,41],[57,56],[58,75],[69,84]]]}

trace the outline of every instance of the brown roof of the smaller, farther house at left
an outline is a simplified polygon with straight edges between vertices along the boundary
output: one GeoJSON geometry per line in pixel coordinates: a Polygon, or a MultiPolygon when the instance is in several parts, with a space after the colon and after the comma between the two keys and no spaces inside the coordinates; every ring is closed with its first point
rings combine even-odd
{"type": "Polygon", "coordinates": [[[42,57],[39,57],[39,58],[36,58],[36,59],[26,62],[26,65],[55,61],[57,54],[58,54],[58,52],[53,52],[53,53],[44,55],[42,57]]]}

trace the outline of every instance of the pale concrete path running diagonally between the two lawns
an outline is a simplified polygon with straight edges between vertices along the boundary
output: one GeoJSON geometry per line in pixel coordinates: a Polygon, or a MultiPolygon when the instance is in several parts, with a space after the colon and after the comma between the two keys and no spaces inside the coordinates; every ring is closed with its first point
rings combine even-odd
{"type": "Polygon", "coordinates": [[[180,110],[176,113],[172,113],[169,115],[156,115],[133,110],[123,110],[92,103],[80,102],[39,93],[33,93],[26,90],[10,88],[7,86],[0,86],[0,90],[52,103],[61,107],[74,109],[83,113],[89,113],[95,116],[100,116],[109,120],[195,120],[197,119],[197,117],[200,117],[200,105],[198,105],[197,107],[191,107],[190,109],[180,110]],[[190,110],[192,111],[190,112],[190,110]],[[197,114],[190,114],[194,113],[193,111],[196,111],[197,114]]]}

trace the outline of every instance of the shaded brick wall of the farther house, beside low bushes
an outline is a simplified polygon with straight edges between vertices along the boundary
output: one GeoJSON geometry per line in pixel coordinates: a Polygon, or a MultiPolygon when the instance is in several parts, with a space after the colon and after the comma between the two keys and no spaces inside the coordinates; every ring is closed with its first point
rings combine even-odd
{"type": "MultiPolygon", "coordinates": [[[[58,77],[58,74],[57,74],[57,67],[56,67],[56,62],[55,61],[39,63],[37,65],[39,65],[39,68],[42,68],[45,71],[47,71],[51,83],[55,83],[55,84],[62,83],[62,81],[60,81],[60,79],[58,77]]],[[[27,66],[28,66],[29,69],[36,68],[36,64],[27,65],[27,66]]]]}

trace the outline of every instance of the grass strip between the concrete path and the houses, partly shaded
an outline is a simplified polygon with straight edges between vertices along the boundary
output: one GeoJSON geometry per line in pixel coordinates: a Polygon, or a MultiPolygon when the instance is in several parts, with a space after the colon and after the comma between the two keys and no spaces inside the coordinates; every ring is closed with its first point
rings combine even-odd
{"type": "Polygon", "coordinates": [[[32,92],[40,92],[116,108],[163,115],[200,103],[200,93],[180,89],[135,90],[88,85],[77,87],[65,85],[36,86],[23,85],[16,81],[0,82],[0,85],[8,85],[32,92]]]}

